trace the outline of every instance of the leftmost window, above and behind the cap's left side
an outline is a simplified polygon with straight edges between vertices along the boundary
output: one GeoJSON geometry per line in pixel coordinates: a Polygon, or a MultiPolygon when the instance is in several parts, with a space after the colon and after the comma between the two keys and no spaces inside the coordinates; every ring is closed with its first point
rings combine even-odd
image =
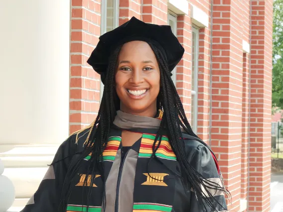
{"type": "MultiPolygon", "coordinates": [[[[119,0],[101,1],[101,34],[119,26],[119,0]]],[[[100,101],[103,95],[103,84],[100,81],[100,101]]]]}

